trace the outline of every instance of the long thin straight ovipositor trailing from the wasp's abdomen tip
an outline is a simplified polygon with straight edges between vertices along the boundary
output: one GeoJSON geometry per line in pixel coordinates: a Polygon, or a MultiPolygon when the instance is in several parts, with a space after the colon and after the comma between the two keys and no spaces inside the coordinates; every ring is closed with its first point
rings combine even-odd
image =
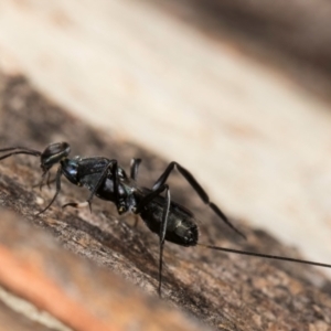
{"type": "Polygon", "coordinates": [[[199,246],[215,249],[215,250],[222,250],[226,253],[234,253],[239,255],[249,255],[255,257],[263,257],[263,258],[269,258],[269,259],[278,259],[278,260],[287,260],[303,265],[311,265],[311,266],[318,266],[323,268],[331,268],[331,265],[328,264],[321,264],[317,261],[306,260],[306,259],[299,259],[299,258],[291,258],[291,257],[285,257],[279,255],[269,255],[269,254],[260,254],[260,253],[254,253],[254,252],[247,252],[247,250],[239,250],[239,249],[233,249],[233,248],[226,248],[226,247],[220,247],[220,246],[213,246],[213,245],[205,245],[205,244],[197,244],[199,246]]]}

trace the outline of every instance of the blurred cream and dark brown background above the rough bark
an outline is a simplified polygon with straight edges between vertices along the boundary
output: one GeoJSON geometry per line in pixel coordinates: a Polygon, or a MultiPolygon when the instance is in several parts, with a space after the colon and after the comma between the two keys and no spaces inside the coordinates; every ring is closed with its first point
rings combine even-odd
{"type": "Polygon", "coordinates": [[[0,68],[330,263],[330,31],[322,0],[1,0],[0,68]]]}

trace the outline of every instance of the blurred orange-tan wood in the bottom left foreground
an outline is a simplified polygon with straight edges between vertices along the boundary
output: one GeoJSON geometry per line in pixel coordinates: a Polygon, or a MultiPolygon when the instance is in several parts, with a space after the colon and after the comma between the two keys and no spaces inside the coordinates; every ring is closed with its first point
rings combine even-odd
{"type": "MultiPolygon", "coordinates": [[[[201,330],[196,321],[143,297],[114,273],[58,247],[28,220],[3,210],[1,215],[0,330],[201,330]]],[[[51,222],[54,231],[61,226],[54,226],[56,220],[42,223],[51,222]]],[[[107,245],[98,247],[88,233],[70,227],[60,233],[72,237],[66,244],[77,253],[97,249],[98,263],[107,255],[107,245]]]]}

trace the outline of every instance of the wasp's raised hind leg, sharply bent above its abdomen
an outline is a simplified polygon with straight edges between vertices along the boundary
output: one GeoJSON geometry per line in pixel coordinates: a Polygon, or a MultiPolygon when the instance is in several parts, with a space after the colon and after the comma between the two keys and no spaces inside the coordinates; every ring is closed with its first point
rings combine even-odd
{"type": "Polygon", "coordinates": [[[153,190],[157,190],[158,188],[160,188],[161,185],[163,185],[167,180],[168,177],[170,175],[171,171],[173,171],[173,169],[177,168],[178,171],[183,175],[183,178],[189,182],[189,184],[193,188],[193,190],[197,193],[197,195],[200,196],[200,199],[207,204],[213,212],[223,221],[226,223],[227,226],[229,226],[233,231],[235,231],[238,235],[241,235],[243,238],[246,239],[246,236],[239,232],[229,221],[228,218],[225,216],[225,214],[220,210],[220,207],[217,207],[213,202],[211,202],[209,195],[206,194],[206,192],[202,189],[202,186],[199,184],[199,182],[195,180],[195,178],[191,174],[191,172],[189,172],[189,170],[186,170],[185,168],[183,168],[182,166],[180,166],[177,162],[170,162],[169,166],[167,167],[167,169],[164,170],[164,172],[160,175],[160,178],[156,181],[154,185],[153,185],[153,190]]]}

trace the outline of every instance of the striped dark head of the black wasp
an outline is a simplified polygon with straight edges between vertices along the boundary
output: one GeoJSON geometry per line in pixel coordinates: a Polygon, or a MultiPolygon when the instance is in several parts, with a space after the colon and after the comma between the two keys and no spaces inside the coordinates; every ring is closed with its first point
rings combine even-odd
{"type": "Polygon", "coordinates": [[[63,158],[66,158],[71,152],[71,147],[67,142],[55,142],[47,146],[41,154],[41,168],[47,171],[52,166],[58,163],[63,158]]]}

